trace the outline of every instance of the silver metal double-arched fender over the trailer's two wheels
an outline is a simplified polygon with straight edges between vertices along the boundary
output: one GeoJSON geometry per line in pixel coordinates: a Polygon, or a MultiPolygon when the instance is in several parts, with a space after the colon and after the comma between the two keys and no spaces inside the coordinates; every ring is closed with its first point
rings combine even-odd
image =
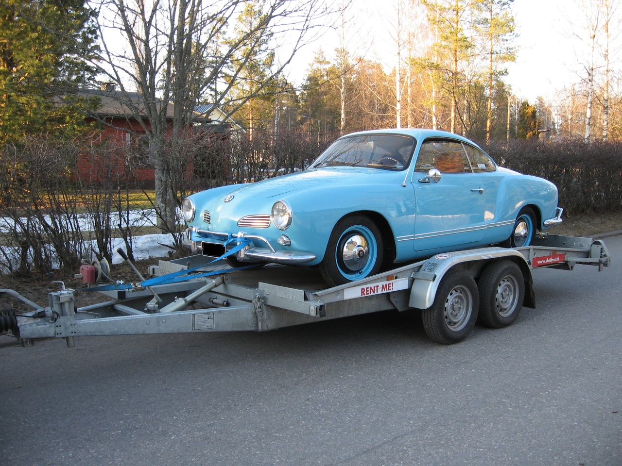
{"type": "Polygon", "coordinates": [[[468,270],[473,278],[477,278],[486,264],[501,258],[516,261],[525,277],[525,305],[533,303],[534,293],[531,286],[531,272],[523,255],[514,249],[488,247],[466,251],[437,254],[426,260],[419,270],[412,273],[413,283],[409,306],[415,309],[427,309],[434,303],[443,276],[452,268],[468,270]]]}

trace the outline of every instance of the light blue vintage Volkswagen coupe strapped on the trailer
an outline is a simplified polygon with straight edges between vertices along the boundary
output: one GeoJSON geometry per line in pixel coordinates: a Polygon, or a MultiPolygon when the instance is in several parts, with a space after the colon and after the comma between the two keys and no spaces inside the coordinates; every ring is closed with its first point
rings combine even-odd
{"type": "Polygon", "coordinates": [[[330,285],[392,263],[482,245],[529,245],[562,221],[557,188],[427,129],[357,132],[307,170],[192,194],[185,244],[233,267],[317,265],[330,285]]]}

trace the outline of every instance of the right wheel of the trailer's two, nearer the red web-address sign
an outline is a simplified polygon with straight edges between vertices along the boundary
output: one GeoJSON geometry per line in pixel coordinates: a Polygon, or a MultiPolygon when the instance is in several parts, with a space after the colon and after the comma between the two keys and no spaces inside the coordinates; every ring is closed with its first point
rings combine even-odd
{"type": "Polygon", "coordinates": [[[479,290],[481,324],[500,329],[516,320],[525,297],[525,281],[516,263],[500,260],[488,265],[480,276],[479,290]]]}

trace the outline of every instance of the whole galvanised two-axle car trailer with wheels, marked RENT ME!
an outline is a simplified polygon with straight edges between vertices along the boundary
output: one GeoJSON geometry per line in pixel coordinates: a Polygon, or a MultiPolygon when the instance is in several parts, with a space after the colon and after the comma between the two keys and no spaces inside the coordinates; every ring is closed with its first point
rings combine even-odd
{"type": "MultiPolygon", "coordinates": [[[[281,327],[397,309],[422,312],[427,335],[441,344],[464,339],[476,321],[505,327],[522,306],[536,305],[531,271],[608,267],[601,240],[537,234],[528,247],[484,247],[436,254],[427,260],[326,288],[313,268],[266,265],[225,270],[224,261],[193,255],[151,266],[139,283],[90,283],[110,299],[76,308],[75,290],[49,293],[42,308],[12,290],[0,290],[35,308],[0,314],[0,331],[34,339],[164,333],[267,331],[281,327]]],[[[131,265],[131,263],[130,263],[131,265]]],[[[92,270],[89,270],[92,272],[92,270]]],[[[95,273],[102,279],[101,270],[95,273]]],[[[85,278],[83,278],[85,280],[85,278]]],[[[92,280],[92,277],[85,281],[92,280]]]]}

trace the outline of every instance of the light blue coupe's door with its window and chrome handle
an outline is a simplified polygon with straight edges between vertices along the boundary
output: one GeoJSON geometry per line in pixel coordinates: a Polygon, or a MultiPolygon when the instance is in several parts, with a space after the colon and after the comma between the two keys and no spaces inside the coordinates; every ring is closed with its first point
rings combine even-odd
{"type": "Polygon", "coordinates": [[[417,251],[480,243],[485,229],[485,190],[473,173],[462,142],[425,140],[412,178],[415,195],[414,249],[417,251]],[[440,171],[440,180],[428,171],[440,171]]]}

